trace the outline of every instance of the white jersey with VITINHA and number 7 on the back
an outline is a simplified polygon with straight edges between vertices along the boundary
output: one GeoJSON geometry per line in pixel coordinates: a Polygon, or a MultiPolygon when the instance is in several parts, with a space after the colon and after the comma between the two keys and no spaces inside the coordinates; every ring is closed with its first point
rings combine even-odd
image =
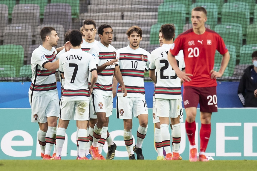
{"type": "Polygon", "coordinates": [[[65,78],[63,100],[89,100],[88,72],[97,70],[94,57],[81,49],[71,49],[60,56],[59,70],[65,78]]]}

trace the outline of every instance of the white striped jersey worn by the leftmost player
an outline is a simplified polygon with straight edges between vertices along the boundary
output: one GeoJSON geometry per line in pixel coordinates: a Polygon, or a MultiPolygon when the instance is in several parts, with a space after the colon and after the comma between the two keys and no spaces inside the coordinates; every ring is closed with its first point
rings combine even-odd
{"type": "Polygon", "coordinates": [[[42,45],[36,48],[31,56],[32,78],[29,94],[43,96],[58,93],[56,87],[55,72],[44,68],[46,63],[56,61],[56,49],[52,47],[49,51],[42,45]]]}

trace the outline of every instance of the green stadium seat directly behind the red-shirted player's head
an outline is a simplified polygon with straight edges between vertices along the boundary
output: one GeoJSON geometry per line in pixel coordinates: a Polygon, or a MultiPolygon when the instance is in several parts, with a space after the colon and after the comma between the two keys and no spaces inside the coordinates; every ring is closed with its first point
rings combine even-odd
{"type": "Polygon", "coordinates": [[[217,5],[215,3],[209,3],[209,2],[197,2],[197,3],[192,4],[190,9],[193,9],[195,7],[204,7],[207,10],[206,24],[210,25],[211,29],[213,30],[215,25],[217,25],[217,22],[218,22],[218,7],[217,7],[217,5]]]}

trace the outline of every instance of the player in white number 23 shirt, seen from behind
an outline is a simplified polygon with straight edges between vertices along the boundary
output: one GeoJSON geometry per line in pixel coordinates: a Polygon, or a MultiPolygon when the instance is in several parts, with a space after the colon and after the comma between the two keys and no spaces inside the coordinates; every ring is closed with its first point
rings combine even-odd
{"type": "MultiPolygon", "coordinates": [[[[178,153],[180,146],[180,115],[182,113],[181,82],[172,70],[167,60],[167,53],[172,46],[175,36],[175,26],[161,26],[163,45],[151,52],[149,76],[155,83],[156,116],[160,119],[160,130],[163,147],[166,151],[164,160],[181,160],[178,153]],[[155,72],[157,76],[155,75],[155,72]],[[170,147],[169,123],[172,124],[172,139],[174,144],[173,157],[170,147]]],[[[183,52],[176,57],[178,66],[185,70],[183,52]]]]}

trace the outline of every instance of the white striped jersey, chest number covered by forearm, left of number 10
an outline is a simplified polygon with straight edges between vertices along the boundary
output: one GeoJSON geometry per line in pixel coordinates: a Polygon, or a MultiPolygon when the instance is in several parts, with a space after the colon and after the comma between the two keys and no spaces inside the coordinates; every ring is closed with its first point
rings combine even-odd
{"type": "MultiPolygon", "coordinates": [[[[108,47],[106,47],[101,42],[98,42],[93,47],[91,47],[88,53],[94,56],[95,63],[98,66],[101,66],[104,63],[117,58],[116,49],[110,44],[108,47]]],[[[100,93],[102,95],[112,96],[112,78],[114,67],[117,65],[107,66],[102,72],[98,73],[98,78],[94,86],[93,94],[100,93]]]]}

